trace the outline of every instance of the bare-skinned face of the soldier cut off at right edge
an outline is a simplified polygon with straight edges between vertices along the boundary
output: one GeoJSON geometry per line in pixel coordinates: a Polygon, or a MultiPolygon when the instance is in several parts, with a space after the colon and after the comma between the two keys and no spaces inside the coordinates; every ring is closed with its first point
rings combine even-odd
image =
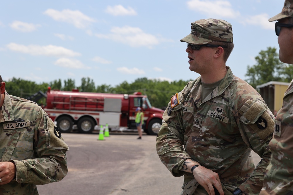
{"type": "MultiPolygon", "coordinates": [[[[288,18],[283,18],[279,23],[288,24],[288,18]]],[[[293,63],[293,28],[281,27],[278,37],[280,46],[279,58],[280,61],[288,64],[293,63]]]]}

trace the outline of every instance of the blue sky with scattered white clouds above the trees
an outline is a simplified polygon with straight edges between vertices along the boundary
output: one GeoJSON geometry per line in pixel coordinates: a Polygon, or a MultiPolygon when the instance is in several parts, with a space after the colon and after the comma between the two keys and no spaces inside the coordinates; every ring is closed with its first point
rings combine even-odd
{"type": "Polygon", "coordinates": [[[147,77],[194,80],[186,43],[191,22],[217,18],[233,26],[234,50],[226,65],[246,79],[247,65],[267,47],[279,51],[275,22],[284,1],[112,0],[2,1],[0,74],[76,86],[90,77],[113,87],[147,77]]]}

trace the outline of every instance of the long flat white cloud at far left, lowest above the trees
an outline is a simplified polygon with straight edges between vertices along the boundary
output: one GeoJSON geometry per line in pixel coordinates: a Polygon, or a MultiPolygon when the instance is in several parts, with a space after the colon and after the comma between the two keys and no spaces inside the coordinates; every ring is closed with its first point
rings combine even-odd
{"type": "Polygon", "coordinates": [[[70,49],[66,49],[61,46],[47,45],[21,45],[16,43],[9,43],[6,45],[11,51],[18,51],[24,54],[30,54],[33,56],[81,56],[80,53],[74,52],[70,49]]]}

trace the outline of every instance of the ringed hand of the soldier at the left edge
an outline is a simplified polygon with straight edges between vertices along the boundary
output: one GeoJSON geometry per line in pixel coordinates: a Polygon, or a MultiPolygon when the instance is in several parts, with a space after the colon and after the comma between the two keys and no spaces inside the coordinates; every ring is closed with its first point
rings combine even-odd
{"type": "Polygon", "coordinates": [[[16,166],[11,162],[0,162],[0,185],[8,184],[16,177],[16,166]]]}

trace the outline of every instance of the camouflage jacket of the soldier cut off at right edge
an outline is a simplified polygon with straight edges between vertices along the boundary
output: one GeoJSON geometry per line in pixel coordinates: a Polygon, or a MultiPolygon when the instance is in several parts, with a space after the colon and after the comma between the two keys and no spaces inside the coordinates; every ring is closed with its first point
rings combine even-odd
{"type": "Polygon", "coordinates": [[[292,194],[293,191],[293,80],[285,96],[283,106],[275,119],[275,131],[269,148],[270,164],[265,172],[260,194],[292,194]]]}

